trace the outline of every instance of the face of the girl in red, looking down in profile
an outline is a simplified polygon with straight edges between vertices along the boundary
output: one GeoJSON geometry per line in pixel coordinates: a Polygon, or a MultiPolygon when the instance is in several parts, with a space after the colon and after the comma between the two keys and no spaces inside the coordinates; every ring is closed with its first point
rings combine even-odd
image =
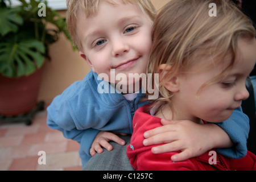
{"type": "MultiPolygon", "coordinates": [[[[232,71],[223,80],[201,86],[218,76],[225,67],[214,65],[210,69],[194,66],[189,73],[179,76],[179,91],[174,94],[173,109],[178,119],[208,122],[225,121],[242,100],[249,97],[245,81],[256,61],[256,40],[238,41],[238,57],[232,71]]],[[[230,59],[229,56],[226,58],[230,59]]],[[[207,60],[203,60],[207,61],[207,60]]],[[[225,61],[225,60],[223,60],[225,61]]],[[[175,118],[176,119],[176,118],[175,118]]]]}

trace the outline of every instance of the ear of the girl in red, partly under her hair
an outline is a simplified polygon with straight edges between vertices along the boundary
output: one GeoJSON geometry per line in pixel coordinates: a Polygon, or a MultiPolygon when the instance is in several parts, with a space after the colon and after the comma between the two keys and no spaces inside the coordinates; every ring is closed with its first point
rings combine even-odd
{"type": "MultiPolygon", "coordinates": [[[[164,77],[167,76],[168,73],[170,73],[172,69],[171,65],[168,64],[161,64],[159,66],[159,81],[162,82],[164,77]]],[[[174,76],[170,78],[170,80],[166,81],[163,85],[167,90],[170,92],[178,92],[179,91],[179,77],[174,76]]]]}

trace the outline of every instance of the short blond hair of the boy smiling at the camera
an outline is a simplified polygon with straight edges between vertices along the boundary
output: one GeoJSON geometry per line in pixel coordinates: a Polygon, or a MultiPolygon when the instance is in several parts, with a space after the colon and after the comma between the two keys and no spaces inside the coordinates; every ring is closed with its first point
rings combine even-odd
{"type": "Polygon", "coordinates": [[[116,1],[120,1],[124,4],[132,3],[139,5],[143,13],[146,14],[152,22],[154,22],[156,10],[150,0],[67,0],[66,18],[68,31],[71,35],[74,46],[79,47],[79,49],[81,49],[81,43],[76,34],[77,13],[81,11],[85,14],[86,18],[96,16],[98,11],[98,4],[100,1],[107,1],[113,5],[117,3],[116,1]]]}

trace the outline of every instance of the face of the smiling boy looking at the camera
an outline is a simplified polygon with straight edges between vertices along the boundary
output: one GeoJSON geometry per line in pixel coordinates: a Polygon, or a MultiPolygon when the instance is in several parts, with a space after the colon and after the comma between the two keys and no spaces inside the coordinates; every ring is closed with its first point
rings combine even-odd
{"type": "Polygon", "coordinates": [[[93,72],[106,73],[109,80],[110,69],[127,79],[129,73],[143,73],[152,44],[151,21],[139,6],[117,3],[101,1],[96,16],[86,18],[80,12],[77,18],[80,55],[93,72]]]}

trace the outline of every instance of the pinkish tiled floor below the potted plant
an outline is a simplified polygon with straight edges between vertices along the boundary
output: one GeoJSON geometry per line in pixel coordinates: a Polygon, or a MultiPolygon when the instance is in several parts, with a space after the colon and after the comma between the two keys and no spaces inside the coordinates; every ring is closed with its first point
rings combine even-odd
{"type": "Polygon", "coordinates": [[[79,144],[50,129],[46,117],[39,111],[30,126],[0,121],[0,170],[81,170],[79,144]]]}

